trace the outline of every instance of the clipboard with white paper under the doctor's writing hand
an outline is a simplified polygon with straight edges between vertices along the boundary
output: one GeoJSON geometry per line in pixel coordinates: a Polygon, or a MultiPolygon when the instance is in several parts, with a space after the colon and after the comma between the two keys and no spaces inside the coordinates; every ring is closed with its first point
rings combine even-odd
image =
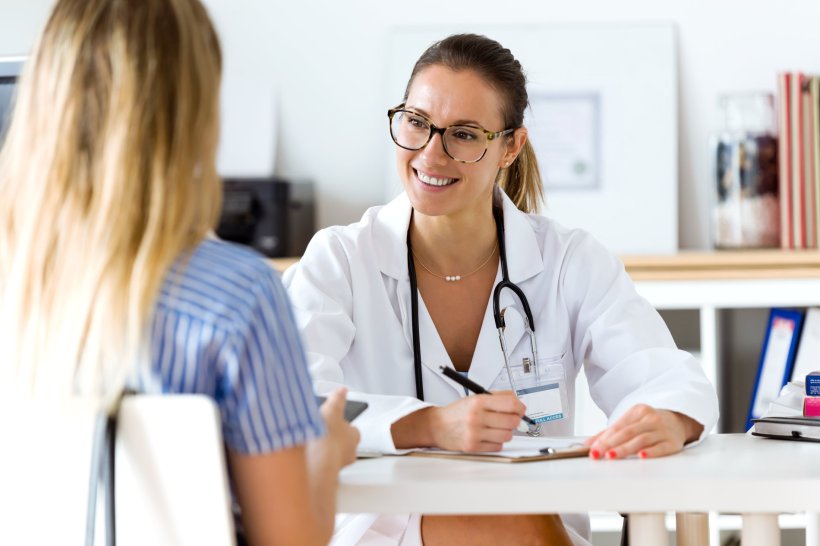
{"type": "Polygon", "coordinates": [[[531,438],[529,436],[515,436],[511,441],[504,444],[504,448],[501,451],[464,452],[428,448],[413,450],[407,453],[407,455],[411,457],[436,457],[440,459],[491,463],[529,463],[534,461],[586,457],[589,455],[589,447],[585,446],[583,442],[583,438],[531,438]],[[541,450],[547,447],[552,448],[552,451],[550,453],[541,453],[541,450]]]}

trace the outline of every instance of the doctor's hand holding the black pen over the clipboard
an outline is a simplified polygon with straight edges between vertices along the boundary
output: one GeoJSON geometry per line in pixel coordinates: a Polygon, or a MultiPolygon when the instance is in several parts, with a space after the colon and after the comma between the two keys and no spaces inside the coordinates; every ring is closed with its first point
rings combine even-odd
{"type": "Polygon", "coordinates": [[[499,451],[512,439],[526,409],[512,391],[467,396],[430,408],[433,445],[452,451],[499,451]]]}

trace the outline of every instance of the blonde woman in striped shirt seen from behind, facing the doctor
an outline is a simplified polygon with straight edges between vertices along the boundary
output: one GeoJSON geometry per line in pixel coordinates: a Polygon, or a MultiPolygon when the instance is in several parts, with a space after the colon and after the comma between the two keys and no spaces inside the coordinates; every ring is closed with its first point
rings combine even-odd
{"type": "Polygon", "coordinates": [[[197,0],[56,3],[0,153],[0,385],[208,394],[248,542],[322,544],[358,433],[343,391],[323,423],[276,275],[208,237],[220,74],[197,0]]]}

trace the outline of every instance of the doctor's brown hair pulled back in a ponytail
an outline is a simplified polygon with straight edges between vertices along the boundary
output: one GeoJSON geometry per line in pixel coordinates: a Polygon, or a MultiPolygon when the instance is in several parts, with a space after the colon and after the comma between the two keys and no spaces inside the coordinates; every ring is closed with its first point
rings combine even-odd
{"type": "MultiPolygon", "coordinates": [[[[427,48],[416,61],[404,91],[405,101],[416,75],[435,65],[442,65],[456,72],[472,70],[479,74],[499,94],[504,129],[517,129],[523,125],[524,110],[529,105],[527,78],[521,63],[509,49],[479,34],[448,36],[427,48]]],[[[512,135],[507,138],[512,138],[512,135]]],[[[519,209],[538,212],[544,186],[529,139],[512,165],[501,170],[498,184],[519,209]]]]}

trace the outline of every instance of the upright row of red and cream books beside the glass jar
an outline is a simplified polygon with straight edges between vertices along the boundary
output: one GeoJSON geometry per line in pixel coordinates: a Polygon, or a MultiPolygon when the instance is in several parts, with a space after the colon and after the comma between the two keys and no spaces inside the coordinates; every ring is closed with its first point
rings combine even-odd
{"type": "Polygon", "coordinates": [[[820,76],[777,78],[780,246],[818,248],[820,241],[820,76]]]}

